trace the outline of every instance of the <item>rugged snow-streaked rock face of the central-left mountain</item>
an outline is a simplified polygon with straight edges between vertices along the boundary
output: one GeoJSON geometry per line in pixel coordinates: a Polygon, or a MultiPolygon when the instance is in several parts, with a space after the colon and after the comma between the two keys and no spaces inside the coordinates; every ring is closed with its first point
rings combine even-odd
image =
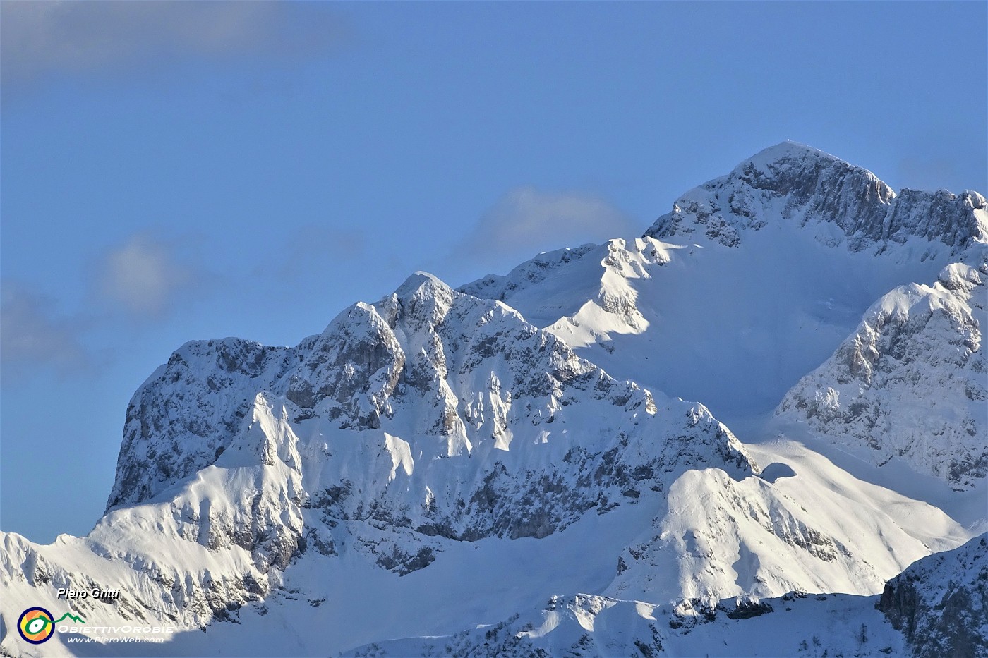
{"type": "Polygon", "coordinates": [[[306,481],[313,505],[427,535],[547,535],[676,469],[753,468],[701,406],[657,405],[510,307],[416,275],[292,349],[184,346],[130,404],[111,504],[217,463],[262,393],[293,427],[353,437],[306,481]]]}

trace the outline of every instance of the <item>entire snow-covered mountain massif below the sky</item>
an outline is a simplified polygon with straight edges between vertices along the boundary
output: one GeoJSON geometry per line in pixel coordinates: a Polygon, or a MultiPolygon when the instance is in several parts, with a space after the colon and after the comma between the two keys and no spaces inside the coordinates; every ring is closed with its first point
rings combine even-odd
{"type": "Polygon", "coordinates": [[[983,532],[985,212],[787,142],[642,237],[187,343],[92,533],[0,535],[0,654],[114,650],[25,643],[31,606],[174,625],[155,655],[723,654],[738,619],[814,655],[859,617],[918,647],[863,597],[983,532]]]}

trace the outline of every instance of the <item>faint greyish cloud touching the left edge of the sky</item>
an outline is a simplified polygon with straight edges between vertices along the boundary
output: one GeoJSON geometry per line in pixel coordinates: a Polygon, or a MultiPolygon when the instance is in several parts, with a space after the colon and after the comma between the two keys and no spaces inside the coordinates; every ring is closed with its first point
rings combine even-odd
{"type": "Polygon", "coordinates": [[[53,299],[13,282],[0,290],[0,363],[4,383],[39,367],[58,374],[88,370],[78,318],[58,316],[53,299]]]}

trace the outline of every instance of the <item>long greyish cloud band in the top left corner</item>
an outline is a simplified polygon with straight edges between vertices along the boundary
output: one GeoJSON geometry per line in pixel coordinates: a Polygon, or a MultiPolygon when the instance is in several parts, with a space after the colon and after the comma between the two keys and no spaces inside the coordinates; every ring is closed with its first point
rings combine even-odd
{"type": "Polygon", "coordinates": [[[0,4],[5,85],[50,73],[124,70],[170,58],[305,54],[340,42],[336,13],[310,3],[34,0],[0,4]]]}

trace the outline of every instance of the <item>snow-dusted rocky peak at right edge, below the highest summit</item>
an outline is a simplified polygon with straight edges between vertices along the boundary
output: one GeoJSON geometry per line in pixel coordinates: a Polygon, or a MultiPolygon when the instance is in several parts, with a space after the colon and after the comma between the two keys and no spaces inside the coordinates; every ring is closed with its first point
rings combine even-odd
{"type": "Polygon", "coordinates": [[[782,399],[807,422],[875,463],[898,457],[957,488],[988,475],[985,408],[988,266],[948,266],[932,286],[884,295],[858,330],[782,399]]]}

